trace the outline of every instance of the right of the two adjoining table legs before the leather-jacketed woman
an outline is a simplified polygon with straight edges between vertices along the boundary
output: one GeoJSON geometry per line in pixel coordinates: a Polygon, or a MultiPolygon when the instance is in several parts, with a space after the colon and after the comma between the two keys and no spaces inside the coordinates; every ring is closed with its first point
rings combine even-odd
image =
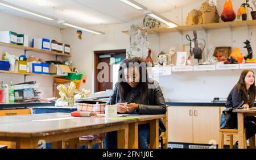
{"type": "Polygon", "coordinates": [[[139,148],[139,133],[138,133],[138,122],[129,124],[129,138],[128,146],[129,149],[138,149],[139,148]]]}

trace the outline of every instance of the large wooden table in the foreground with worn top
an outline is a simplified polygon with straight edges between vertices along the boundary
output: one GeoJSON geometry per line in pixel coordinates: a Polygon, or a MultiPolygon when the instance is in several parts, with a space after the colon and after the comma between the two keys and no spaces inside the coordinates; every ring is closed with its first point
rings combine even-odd
{"type": "Polygon", "coordinates": [[[134,119],[71,117],[70,113],[0,117],[0,141],[14,141],[16,148],[38,148],[42,141],[61,148],[60,142],[69,139],[69,148],[79,148],[80,136],[117,131],[118,148],[138,148],[138,125],[150,123],[150,148],[158,148],[158,119],[165,115],[131,116],[134,119]]]}

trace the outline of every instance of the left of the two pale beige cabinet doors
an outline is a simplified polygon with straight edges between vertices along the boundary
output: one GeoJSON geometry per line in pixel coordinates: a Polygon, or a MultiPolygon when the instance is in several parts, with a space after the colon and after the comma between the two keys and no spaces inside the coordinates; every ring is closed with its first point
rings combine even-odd
{"type": "Polygon", "coordinates": [[[168,141],[193,142],[192,107],[168,107],[168,141]]]}

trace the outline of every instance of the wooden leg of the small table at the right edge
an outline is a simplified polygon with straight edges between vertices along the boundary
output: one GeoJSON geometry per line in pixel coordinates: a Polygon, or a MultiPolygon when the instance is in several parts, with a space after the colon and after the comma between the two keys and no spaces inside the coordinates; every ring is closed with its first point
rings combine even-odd
{"type": "Polygon", "coordinates": [[[243,123],[243,113],[237,113],[237,122],[238,122],[238,148],[239,149],[245,149],[245,134],[244,134],[244,123],[243,123]]]}

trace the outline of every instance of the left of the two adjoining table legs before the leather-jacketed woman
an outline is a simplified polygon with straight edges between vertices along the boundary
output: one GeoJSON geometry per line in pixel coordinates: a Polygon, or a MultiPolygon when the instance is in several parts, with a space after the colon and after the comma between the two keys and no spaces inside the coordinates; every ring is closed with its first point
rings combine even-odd
{"type": "Polygon", "coordinates": [[[117,131],[117,148],[128,148],[129,125],[125,124],[125,128],[117,131]]]}

